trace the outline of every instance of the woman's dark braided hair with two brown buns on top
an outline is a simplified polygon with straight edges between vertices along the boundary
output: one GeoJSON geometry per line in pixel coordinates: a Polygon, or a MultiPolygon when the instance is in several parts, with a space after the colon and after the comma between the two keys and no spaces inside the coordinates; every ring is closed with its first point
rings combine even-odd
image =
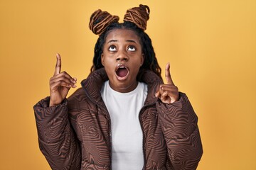
{"type": "Polygon", "coordinates": [[[142,53],[144,54],[144,63],[139,69],[137,80],[142,79],[142,73],[146,69],[153,71],[161,78],[161,67],[159,67],[156,60],[154,47],[149,35],[144,32],[146,30],[146,21],[149,20],[149,12],[149,7],[144,5],[128,9],[124,15],[124,23],[118,23],[118,16],[112,16],[110,13],[106,11],[102,12],[100,9],[92,13],[89,27],[93,33],[99,35],[99,38],[95,44],[91,72],[104,67],[101,63],[101,55],[107,35],[115,29],[128,29],[133,30],[139,37],[140,44],[142,45],[142,53]]]}

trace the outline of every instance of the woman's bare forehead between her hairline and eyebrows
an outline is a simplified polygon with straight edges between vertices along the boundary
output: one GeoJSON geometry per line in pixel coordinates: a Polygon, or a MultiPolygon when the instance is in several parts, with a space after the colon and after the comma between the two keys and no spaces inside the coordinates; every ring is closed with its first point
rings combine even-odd
{"type": "Polygon", "coordinates": [[[135,40],[139,42],[139,36],[134,30],[118,28],[110,30],[110,33],[107,34],[106,40],[135,40]]]}

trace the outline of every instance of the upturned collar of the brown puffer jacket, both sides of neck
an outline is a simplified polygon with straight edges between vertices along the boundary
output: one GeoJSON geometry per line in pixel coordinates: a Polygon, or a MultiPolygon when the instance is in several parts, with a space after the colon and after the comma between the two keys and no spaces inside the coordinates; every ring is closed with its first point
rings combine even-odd
{"type": "MultiPolygon", "coordinates": [[[[158,90],[159,85],[163,84],[163,81],[151,70],[144,70],[141,74],[141,81],[148,85],[148,95],[144,104],[153,104],[157,101],[155,93],[158,90]]],[[[102,88],[102,84],[107,80],[107,73],[104,68],[101,68],[91,72],[87,79],[84,79],[81,82],[87,96],[92,100],[92,102],[100,104],[101,106],[105,106],[105,104],[101,98],[100,90],[102,88]]]]}

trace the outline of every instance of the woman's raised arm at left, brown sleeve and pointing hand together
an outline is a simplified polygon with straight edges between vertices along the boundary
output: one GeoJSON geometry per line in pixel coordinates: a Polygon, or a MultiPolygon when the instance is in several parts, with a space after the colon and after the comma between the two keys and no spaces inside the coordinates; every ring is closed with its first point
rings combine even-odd
{"type": "Polygon", "coordinates": [[[60,55],[53,77],[50,78],[50,97],[33,107],[41,152],[52,169],[80,169],[81,153],[75,132],[68,120],[66,96],[76,79],[61,72],[60,55]]]}

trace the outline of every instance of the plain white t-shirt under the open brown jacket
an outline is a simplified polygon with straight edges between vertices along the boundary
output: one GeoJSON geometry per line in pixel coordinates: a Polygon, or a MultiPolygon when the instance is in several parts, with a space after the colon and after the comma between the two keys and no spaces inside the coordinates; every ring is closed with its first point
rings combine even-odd
{"type": "Polygon", "coordinates": [[[109,81],[105,81],[101,95],[111,118],[112,169],[142,169],[143,134],[139,111],[146,99],[147,85],[139,82],[134,91],[119,93],[111,89],[109,81]]]}

